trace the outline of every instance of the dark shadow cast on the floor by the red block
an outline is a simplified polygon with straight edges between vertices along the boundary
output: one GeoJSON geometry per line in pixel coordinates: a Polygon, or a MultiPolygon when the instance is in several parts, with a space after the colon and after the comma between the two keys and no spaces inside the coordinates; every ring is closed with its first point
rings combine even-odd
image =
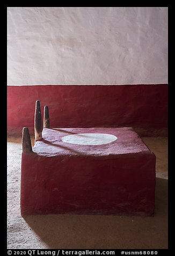
{"type": "Polygon", "coordinates": [[[167,180],[156,179],[154,217],[30,215],[25,221],[49,248],[167,248],[167,180]]]}

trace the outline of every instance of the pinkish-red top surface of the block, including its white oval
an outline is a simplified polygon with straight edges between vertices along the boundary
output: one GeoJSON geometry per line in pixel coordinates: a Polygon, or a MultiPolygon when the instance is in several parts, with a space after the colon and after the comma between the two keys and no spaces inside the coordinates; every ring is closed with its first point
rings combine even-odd
{"type": "Polygon", "coordinates": [[[44,128],[33,152],[45,157],[151,153],[132,127],[44,128]]]}

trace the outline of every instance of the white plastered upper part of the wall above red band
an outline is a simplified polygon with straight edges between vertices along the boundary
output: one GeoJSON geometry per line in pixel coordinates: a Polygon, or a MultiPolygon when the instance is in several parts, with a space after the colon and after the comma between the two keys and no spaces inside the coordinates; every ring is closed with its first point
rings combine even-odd
{"type": "Polygon", "coordinates": [[[9,7],[8,84],[167,83],[167,7],[9,7]]]}

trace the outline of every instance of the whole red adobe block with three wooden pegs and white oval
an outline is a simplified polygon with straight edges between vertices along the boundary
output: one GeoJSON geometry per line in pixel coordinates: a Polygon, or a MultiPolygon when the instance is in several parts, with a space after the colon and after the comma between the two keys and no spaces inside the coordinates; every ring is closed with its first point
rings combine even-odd
{"type": "Polygon", "coordinates": [[[131,127],[23,128],[21,215],[154,215],[156,157],[131,127]]]}

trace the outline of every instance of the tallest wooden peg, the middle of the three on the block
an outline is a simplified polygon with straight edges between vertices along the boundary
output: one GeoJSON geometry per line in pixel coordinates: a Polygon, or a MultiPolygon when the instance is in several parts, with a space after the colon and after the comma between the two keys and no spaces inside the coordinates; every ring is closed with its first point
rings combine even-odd
{"type": "Polygon", "coordinates": [[[34,132],[35,140],[42,139],[41,108],[39,101],[36,101],[35,104],[34,132]]]}

